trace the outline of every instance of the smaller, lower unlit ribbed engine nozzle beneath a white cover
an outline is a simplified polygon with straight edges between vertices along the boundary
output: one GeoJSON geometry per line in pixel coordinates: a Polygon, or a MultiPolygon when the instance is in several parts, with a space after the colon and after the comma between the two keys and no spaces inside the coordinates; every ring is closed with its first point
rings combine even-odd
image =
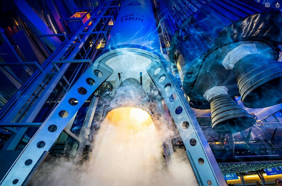
{"type": "Polygon", "coordinates": [[[211,126],[219,134],[240,132],[250,128],[256,122],[252,115],[227,94],[212,98],[210,104],[211,126]]]}

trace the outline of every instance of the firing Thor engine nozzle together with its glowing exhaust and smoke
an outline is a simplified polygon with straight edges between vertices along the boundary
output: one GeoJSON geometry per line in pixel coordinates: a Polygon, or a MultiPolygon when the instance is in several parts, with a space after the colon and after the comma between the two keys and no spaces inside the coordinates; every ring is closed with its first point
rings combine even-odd
{"type": "Polygon", "coordinates": [[[170,139],[173,131],[167,129],[164,117],[153,120],[140,109],[148,105],[138,81],[124,81],[94,135],[89,159],[83,165],[57,161],[44,167],[34,185],[197,185],[183,149],[176,150],[174,161],[166,165],[162,142],[170,139]],[[50,179],[46,181],[46,177],[50,179]]]}

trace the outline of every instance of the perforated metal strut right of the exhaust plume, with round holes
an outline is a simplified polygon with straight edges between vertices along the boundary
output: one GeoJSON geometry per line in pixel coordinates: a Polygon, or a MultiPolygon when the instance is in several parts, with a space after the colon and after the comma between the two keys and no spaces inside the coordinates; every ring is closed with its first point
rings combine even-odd
{"type": "Polygon", "coordinates": [[[171,112],[198,185],[226,185],[206,137],[166,62],[158,58],[146,70],[171,112]]]}

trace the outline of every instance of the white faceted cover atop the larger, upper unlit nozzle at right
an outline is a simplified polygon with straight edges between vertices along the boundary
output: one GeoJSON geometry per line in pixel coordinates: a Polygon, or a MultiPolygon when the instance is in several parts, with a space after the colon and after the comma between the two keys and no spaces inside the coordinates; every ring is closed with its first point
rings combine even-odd
{"type": "Polygon", "coordinates": [[[257,47],[254,43],[241,44],[229,51],[222,61],[222,65],[226,70],[232,70],[233,66],[243,57],[257,52],[257,47]]]}

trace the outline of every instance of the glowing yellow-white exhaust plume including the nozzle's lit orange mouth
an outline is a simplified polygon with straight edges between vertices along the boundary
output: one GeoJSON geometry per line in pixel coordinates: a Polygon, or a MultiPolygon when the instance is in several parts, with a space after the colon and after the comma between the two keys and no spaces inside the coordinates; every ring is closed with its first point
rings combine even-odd
{"type": "Polygon", "coordinates": [[[101,124],[81,185],[196,185],[187,161],[178,159],[167,169],[162,155],[166,135],[142,109],[110,111],[101,124]]]}

